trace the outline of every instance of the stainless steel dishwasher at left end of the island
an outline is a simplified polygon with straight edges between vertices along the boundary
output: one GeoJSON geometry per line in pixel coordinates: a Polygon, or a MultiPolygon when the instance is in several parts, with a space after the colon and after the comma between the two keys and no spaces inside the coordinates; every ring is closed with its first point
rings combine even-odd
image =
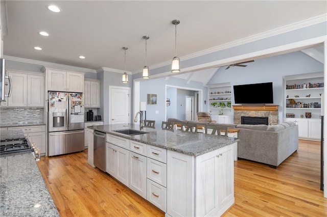
{"type": "Polygon", "coordinates": [[[93,163],[94,166],[106,172],[106,133],[94,131],[94,152],[93,163]]]}

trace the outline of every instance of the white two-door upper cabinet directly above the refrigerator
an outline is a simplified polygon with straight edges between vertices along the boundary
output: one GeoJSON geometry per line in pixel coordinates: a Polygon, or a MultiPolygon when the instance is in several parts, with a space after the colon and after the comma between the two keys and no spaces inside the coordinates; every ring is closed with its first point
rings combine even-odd
{"type": "Polygon", "coordinates": [[[46,69],[48,91],[84,92],[84,74],[79,72],[46,69]]]}

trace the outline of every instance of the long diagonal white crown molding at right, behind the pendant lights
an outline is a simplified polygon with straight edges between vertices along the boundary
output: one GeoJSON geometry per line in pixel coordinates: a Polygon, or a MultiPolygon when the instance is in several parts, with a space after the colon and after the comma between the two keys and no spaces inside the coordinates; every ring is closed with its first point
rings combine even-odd
{"type": "MultiPolygon", "coordinates": [[[[249,37],[246,37],[246,38],[242,38],[240,40],[228,42],[228,43],[216,46],[216,47],[201,50],[199,52],[195,52],[195,53],[192,53],[190,55],[180,57],[179,59],[180,59],[180,62],[182,62],[184,60],[189,60],[189,59],[192,59],[192,58],[197,58],[197,57],[200,57],[200,56],[203,56],[203,55],[207,55],[208,53],[212,53],[212,52],[224,50],[224,49],[227,49],[227,48],[239,46],[239,45],[242,45],[242,44],[250,43],[250,42],[253,42],[253,41],[258,41],[258,40],[261,40],[261,39],[269,38],[269,37],[272,37],[272,36],[275,36],[275,35],[287,33],[287,32],[297,30],[297,29],[300,29],[300,28],[305,28],[307,26],[318,24],[318,23],[325,22],[325,21],[327,21],[327,14],[322,14],[322,15],[312,17],[312,18],[309,18],[309,19],[306,19],[306,20],[298,21],[298,22],[295,22],[295,23],[292,23],[292,24],[289,24],[289,25],[284,25],[284,26],[282,26],[280,28],[276,28],[276,29],[269,30],[269,31],[266,31],[266,32],[263,32],[263,33],[259,33],[259,34],[252,35],[252,36],[249,36],[249,37]]],[[[167,66],[170,63],[171,63],[171,61],[166,61],[166,62],[162,62],[162,63],[156,64],[156,65],[149,66],[149,68],[155,69],[155,68],[167,66]]],[[[139,73],[139,72],[142,72],[142,69],[132,71],[132,73],[139,73]]]]}

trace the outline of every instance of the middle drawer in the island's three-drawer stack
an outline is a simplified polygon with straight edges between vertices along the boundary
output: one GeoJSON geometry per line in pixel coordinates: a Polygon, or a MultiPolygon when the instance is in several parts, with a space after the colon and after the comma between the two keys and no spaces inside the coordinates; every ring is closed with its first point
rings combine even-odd
{"type": "Polygon", "coordinates": [[[167,165],[157,160],[148,158],[147,177],[148,179],[167,187],[167,165]]]}

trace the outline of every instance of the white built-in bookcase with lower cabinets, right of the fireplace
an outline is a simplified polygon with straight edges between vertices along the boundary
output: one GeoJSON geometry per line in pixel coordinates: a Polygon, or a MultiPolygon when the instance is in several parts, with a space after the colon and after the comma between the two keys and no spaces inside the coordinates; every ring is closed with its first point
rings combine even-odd
{"type": "Polygon", "coordinates": [[[299,138],[319,140],[323,72],[285,76],[284,84],[284,120],[298,125],[299,138]]]}

